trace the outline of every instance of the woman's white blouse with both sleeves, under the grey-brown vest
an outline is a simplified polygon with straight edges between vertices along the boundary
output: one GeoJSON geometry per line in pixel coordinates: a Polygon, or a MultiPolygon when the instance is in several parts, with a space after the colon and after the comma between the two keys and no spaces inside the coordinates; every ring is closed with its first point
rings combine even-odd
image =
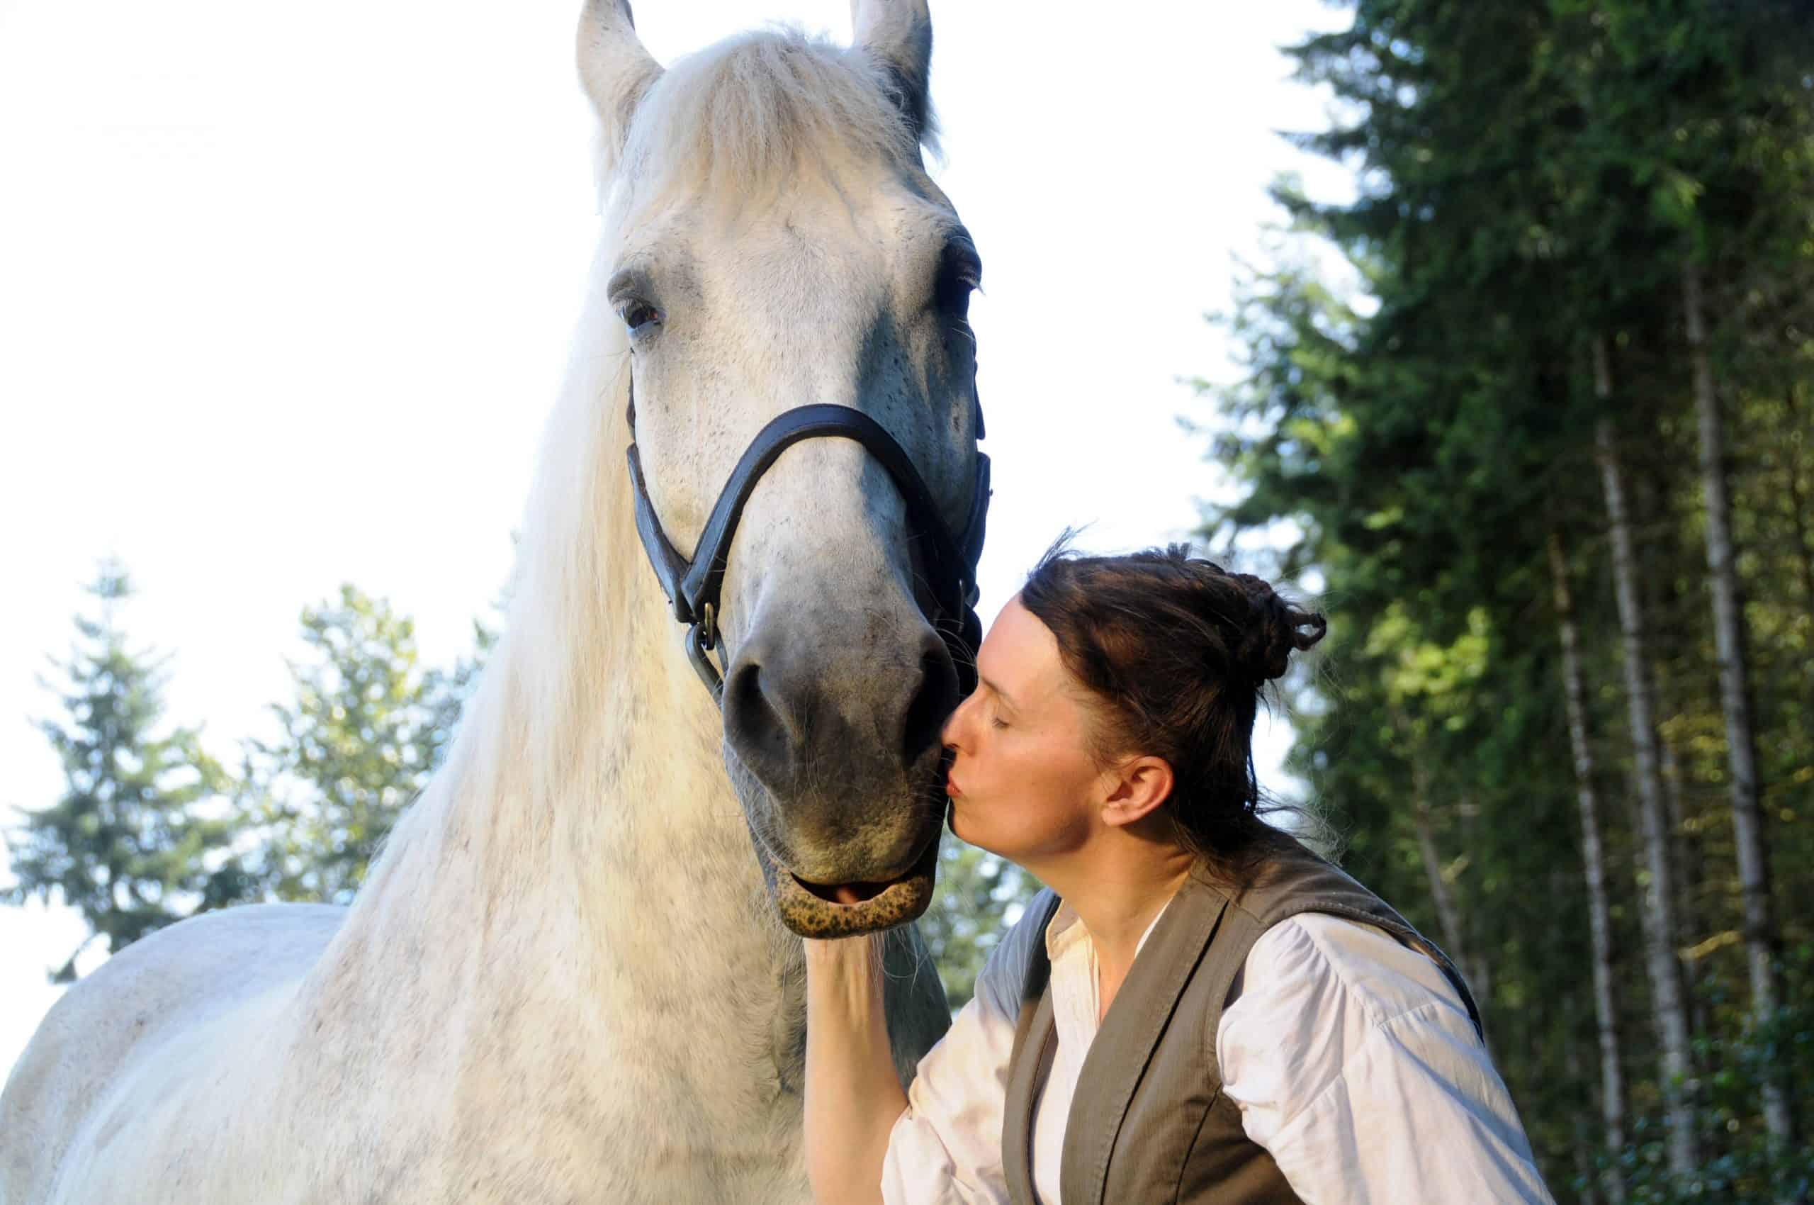
{"type": "MultiPolygon", "coordinates": [[[[1096,945],[1068,904],[1043,935],[1038,911],[1001,938],[976,996],[920,1060],[882,1167],[887,1205],[1007,1203],[1009,1054],[1041,936],[1058,1047],[1036,1102],[1032,1183],[1059,1205],[1065,1122],[1097,1029],[1096,945]]],[[[1304,1201],[1553,1205],[1506,1083],[1429,958],[1373,926],[1302,913],[1253,944],[1235,982],[1215,1033],[1223,1091],[1304,1201]]]]}

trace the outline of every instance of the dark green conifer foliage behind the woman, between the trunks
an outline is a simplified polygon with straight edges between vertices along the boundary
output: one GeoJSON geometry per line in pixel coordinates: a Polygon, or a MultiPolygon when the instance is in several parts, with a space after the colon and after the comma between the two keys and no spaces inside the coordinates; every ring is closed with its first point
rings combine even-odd
{"type": "MultiPolygon", "coordinates": [[[[1694,263],[1734,452],[1776,915],[1807,942],[1807,16],[1774,0],[1357,0],[1350,29],[1292,54],[1344,114],[1297,142],[1350,163],[1360,196],[1319,205],[1277,187],[1290,230],[1230,318],[1243,377],[1201,385],[1212,457],[1244,486],[1204,515],[1204,535],[1234,555],[1243,534],[1266,532],[1279,546],[1264,568],[1324,583],[1328,673],[1293,700],[1292,768],[1344,831],[1350,867],[1415,924],[1442,933],[1431,884],[1451,896],[1495,1056],[1553,1185],[1591,1161],[1600,1123],[1551,535],[1571,550],[1616,949],[1638,949],[1643,907],[1602,417],[1636,514],[1680,815],[1682,944],[1712,951],[1692,960],[1700,1187],[1660,1171],[1649,984],[1634,953],[1614,967],[1631,1118],[1616,1172],[1647,1201],[1794,1200],[1781,1178],[1807,1174],[1760,1125],[1765,1073],[1801,1049],[1809,1022],[1758,1033],[1747,1013],[1682,325],[1694,263]],[[1346,258],[1341,285],[1330,249],[1346,258]],[[1611,348],[1611,412],[1591,374],[1596,339],[1611,348]]],[[[1807,1082],[1805,1067],[1792,1078],[1807,1082]]]]}

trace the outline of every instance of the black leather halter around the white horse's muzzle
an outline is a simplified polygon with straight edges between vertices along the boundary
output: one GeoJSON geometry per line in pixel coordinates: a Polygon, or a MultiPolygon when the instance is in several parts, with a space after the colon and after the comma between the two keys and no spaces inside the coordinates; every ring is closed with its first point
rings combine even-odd
{"type": "MultiPolygon", "coordinates": [[[[983,403],[974,390],[970,396],[976,407],[976,437],[981,439],[983,403]]],[[[635,387],[631,387],[626,417],[631,439],[629,481],[635,485],[637,495],[637,535],[642,537],[642,548],[649,554],[655,577],[660,579],[662,592],[675,608],[675,619],[688,624],[688,657],[715,699],[724,691],[724,673],[711,661],[711,651],[718,646],[718,592],[724,588],[731,537],[736,535],[736,521],[744,514],[744,503],[749,501],[756,481],[782,452],[802,439],[827,436],[863,445],[894,479],[894,486],[907,503],[907,523],[922,537],[925,581],[932,590],[932,608],[927,619],[932,621],[932,630],[943,637],[945,648],[951,650],[951,661],[958,668],[960,697],[976,690],[976,646],[983,641],[983,624],[976,617],[976,561],[983,554],[983,523],[989,515],[989,457],[983,452],[976,452],[976,490],[970,495],[970,515],[963,534],[952,537],[912,459],[880,423],[851,407],[795,407],[775,416],[767,426],[756,432],[742,459],[736,461],[736,468],[731,470],[731,479],[724,483],[718,503],[711,508],[698,544],[693,548],[693,559],[688,561],[662,532],[662,523],[655,517],[655,505],[649,501],[649,486],[642,479],[642,459],[637,456],[635,443],[635,387]]]]}

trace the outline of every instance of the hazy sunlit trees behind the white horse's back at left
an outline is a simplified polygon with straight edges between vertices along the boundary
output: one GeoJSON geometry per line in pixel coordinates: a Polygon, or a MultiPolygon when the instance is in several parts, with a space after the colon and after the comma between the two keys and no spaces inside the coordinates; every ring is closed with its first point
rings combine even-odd
{"type": "MultiPolygon", "coordinates": [[[[18,882],[0,900],[67,902],[91,927],[83,947],[103,936],[109,953],[207,907],[346,902],[439,764],[497,639],[475,621],[470,655],[424,668],[412,621],[343,586],[303,610],[296,699],[272,708],[281,737],[247,742],[230,773],[196,730],[154,735],[165,679],[120,632],[125,572],[107,564],[89,590],[102,613],[76,619],[71,720],[40,724],[69,793],[7,835],[18,882]]],[[[73,975],[74,955],[58,978],[73,975]]]]}

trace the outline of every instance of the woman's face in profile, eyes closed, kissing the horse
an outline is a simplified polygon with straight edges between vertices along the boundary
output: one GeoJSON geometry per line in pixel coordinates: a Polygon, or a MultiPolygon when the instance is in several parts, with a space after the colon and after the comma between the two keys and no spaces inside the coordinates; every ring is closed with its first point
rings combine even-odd
{"type": "Polygon", "coordinates": [[[983,849],[1038,867],[1103,828],[1107,777],[1090,759],[1083,686],[1058,641],[1016,595],[976,653],[976,693],[945,720],[951,829],[983,849]]]}

